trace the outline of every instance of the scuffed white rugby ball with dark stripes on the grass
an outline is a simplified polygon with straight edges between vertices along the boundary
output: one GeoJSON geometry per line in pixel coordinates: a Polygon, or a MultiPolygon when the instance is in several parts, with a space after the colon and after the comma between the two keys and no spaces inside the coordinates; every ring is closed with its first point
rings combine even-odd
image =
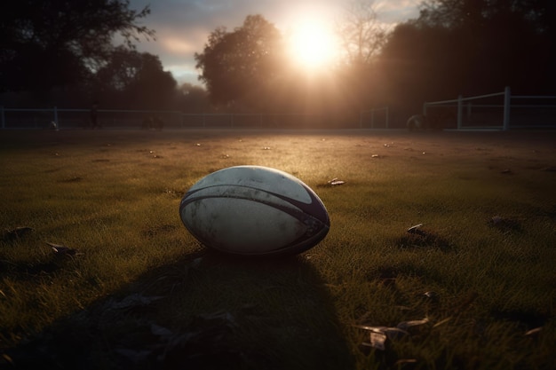
{"type": "Polygon", "coordinates": [[[242,256],[298,254],[330,229],[328,212],[309,186],[260,166],[203,177],[183,196],[179,216],[204,246],[242,256]]]}

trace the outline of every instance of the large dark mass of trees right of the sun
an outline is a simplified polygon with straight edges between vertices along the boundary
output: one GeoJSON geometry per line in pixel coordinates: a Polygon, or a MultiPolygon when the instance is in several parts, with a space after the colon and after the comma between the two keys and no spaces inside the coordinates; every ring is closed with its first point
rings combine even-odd
{"type": "Polygon", "coordinates": [[[504,86],[523,94],[553,94],[551,6],[545,0],[424,2],[416,20],[394,29],[380,55],[385,95],[415,113],[427,100],[504,86]]]}

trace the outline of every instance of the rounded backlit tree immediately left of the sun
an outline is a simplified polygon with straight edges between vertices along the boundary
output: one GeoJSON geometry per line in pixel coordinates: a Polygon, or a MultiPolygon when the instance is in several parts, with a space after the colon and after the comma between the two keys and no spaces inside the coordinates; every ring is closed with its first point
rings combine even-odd
{"type": "Polygon", "coordinates": [[[264,96],[282,68],[282,35],[261,15],[249,15],[242,27],[228,32],[217,28],[202,53],[195,53],[199,79],[213,103],[226,105],[242,100],[264,105],[264,96]]]}

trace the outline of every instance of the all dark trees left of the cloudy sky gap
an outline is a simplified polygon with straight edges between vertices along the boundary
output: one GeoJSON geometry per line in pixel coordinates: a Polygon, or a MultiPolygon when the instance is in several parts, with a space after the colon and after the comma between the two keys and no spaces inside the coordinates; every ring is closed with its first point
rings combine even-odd
{"type": "Polygon", "coordinates": [[[178,86],[157,56],[136,50],[155,38],[140,25],[149,13],[127,0],[3,2],[0,105],[203,112],[204,89],[178,86]]]}

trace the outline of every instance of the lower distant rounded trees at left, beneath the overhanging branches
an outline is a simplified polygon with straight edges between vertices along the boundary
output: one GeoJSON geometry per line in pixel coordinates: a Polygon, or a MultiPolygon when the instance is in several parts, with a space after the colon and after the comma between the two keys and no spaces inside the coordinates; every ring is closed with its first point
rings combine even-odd
{"type": "MultiPolygon", "coordinates": [[[[44,67],[45,73],[47,67],[44,67]]],[[[93,102],[101,109],[178,110],[186,113],[210,111],[208,94],[200,86],[178,86],[163,70],[157,56],[120,48],[107,65],[86,78],[48,89],[4,91],[0,106],[83,108],[93,102]]]]}

